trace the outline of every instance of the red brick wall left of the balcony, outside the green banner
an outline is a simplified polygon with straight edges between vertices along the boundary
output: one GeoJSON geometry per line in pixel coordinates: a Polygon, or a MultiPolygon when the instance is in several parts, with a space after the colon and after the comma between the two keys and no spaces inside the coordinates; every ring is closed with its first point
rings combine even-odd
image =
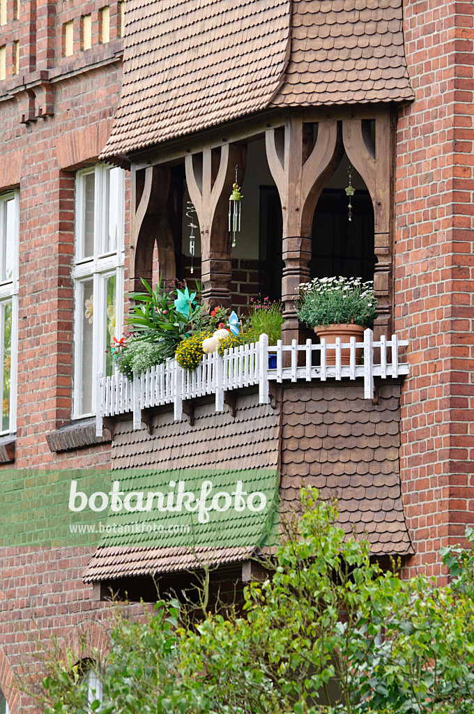
{"type": "MultiPolygon", "coordinates": [[[[16,2],[9,2],[9,24],[0,27],[0,45],[20,41],[20,74],[12,76],[10,67],[0,82],[0,191],[20,190],[16,462],[1,468],[105,468],[110,461],[109,444],[51,453],[46,443],[46,433],[71,421],[74,171],[96,161],[121,87],[119,4],[111,3],[111,41],[102,45],[104,4],[21,0],[15,20],[16,2]],[[93,46],[82,52],[80,18],[89,12],[93,46]],[[62,25],[70,19],[74,54],[63,58],[62,25]],[[20,91],[25,82],[32,89],[20,91]]],[[[127,201],[128,191],[127,175],[127,201]]],[[[41,637],[57,633],[70,640],[81,623],[103,617],[104,603],[91,599],[92,588],[81,579],[89,557],[80,548],[28,551],[12,544],[0,551],[3,690],[11,667],[26,663],[31,619],[41,637]]],[[[17,713],[33,710],[25,699],[7,696],[17,713]]]]}

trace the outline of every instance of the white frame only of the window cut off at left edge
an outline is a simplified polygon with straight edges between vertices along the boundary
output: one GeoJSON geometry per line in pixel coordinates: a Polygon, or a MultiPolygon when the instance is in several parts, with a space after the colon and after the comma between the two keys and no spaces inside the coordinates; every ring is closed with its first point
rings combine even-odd
{"type": "MultiPolygon", "coordinates": [[[[9,428],[0,430],[0,436],[16,433],[16,389],[18,383],[18,272],[19,272],[19,241],[20,241],[20,192],[6,191],[0,194],[0,246],[6,239],[6,203],[14,201],[14,263],[11,280],[0,282],[0,305],[11,301],[11,362],[10,362],[10,421],[9,428]]],[[[0,250],[0,276],[3,271],[3,250],[0,250]]],[[[0,330],[3,333],[4,326],[0,323],[0,330]]],[[[0,368],[3,368],[3,340],[0,342],[0,368]]],[[[3,409],[3,406],[2,406],[3,409]]],[[[3,414],[2,414],[3,416],[3,414]]]]}

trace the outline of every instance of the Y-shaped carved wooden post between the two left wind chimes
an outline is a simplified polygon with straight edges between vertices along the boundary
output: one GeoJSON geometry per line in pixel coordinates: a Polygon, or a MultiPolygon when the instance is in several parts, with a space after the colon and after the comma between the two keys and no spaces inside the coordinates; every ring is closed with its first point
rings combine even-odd
{"type": "Polygon", "coordinates": [[[223,144],[220,151],[205,147],[202,154],[186,156],[186,183],[196,208],[201,231],[203,300],[211,307],[231,306],[231,240],[228,199],[235,181],[241,183],[246,168],[246,146],[223,144]]]}

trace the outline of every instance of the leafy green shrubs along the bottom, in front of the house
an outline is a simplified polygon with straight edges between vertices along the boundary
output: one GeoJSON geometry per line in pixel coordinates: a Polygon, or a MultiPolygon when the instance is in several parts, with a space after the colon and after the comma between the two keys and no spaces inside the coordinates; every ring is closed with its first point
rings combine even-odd
{"type": "MultiPolygon", "coordinates": [[[[113,606],[111,648],[97,663],[101,713],[472,714],[472,529],[468,549],[443,552],[451,578],[436,585],[402,580],[395,563],[382,570],[336,521],[335,503],[303,488],[243,602],[219,609],[205,598],[197,616],[159,600],[135,621],[113,606]]],[[[73,661],[51,650],[46,714],[84,712],[73,661]]]]}

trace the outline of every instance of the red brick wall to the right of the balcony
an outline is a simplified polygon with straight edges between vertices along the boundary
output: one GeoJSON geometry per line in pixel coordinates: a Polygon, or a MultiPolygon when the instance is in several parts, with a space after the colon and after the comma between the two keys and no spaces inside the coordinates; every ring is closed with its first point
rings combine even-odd
{"type": "Polygon", "coordinates": [[[395,331],[410,340],[400,465],[410,565],[438,575],[440,546],[462,538],[474,506],[474,6],[404,9],[416,99],[397,136],[395,331]]]}

